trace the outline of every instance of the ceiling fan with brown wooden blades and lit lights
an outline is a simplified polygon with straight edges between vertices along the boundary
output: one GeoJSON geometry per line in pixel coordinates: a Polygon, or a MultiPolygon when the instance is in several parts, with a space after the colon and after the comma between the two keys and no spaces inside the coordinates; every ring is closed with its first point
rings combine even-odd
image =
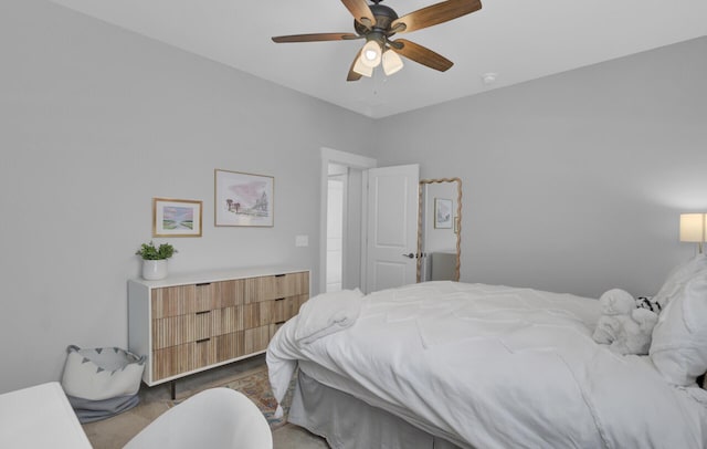
{"type": "Polygon", "coordinates": [[[371,76],[373,69],[383,65],[387,75],[402,69],[399,55],[408,58],[428,67],[444,72],[454,63],[446,58],[405,39],[391,40],[394,34],[409,33],[436,25],[482,8],[481,0],[446,0],[414,12],[398,17],[391,8],[379,4],[382,0],[341,0],[354,15],[354,33],[314,33],[293,34],[273,38],[274,42],[321,42],[366,39],[366,44],[354,59],[346,81],[358,81],[361,76],[371,76]]]}

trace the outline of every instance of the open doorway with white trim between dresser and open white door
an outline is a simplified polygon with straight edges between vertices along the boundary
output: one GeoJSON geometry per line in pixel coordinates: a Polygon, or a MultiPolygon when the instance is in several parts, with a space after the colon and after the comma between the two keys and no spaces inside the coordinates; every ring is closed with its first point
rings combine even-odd
{"type": "Polygon", "coordinates": [[[363,171],[376,165],[376,159],[321,148],[320,292],[362,286],[363,171]]]}

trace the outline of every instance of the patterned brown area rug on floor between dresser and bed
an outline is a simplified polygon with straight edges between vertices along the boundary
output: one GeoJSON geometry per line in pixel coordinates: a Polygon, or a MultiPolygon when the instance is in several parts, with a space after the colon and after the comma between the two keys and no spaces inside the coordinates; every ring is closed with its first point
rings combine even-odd
{"type": "MultiPolygon", "coordinates": [[[[250,369],[245,373],[225,379],[224,382],[211,384],[207,388],[226,387],[244,394],[249,397],[249,399],[253,401],[253,404],[257,406],[265,419],[267,419],[270,428],[272,430],[275,430],[287,422],[287,415],[289,413],[289,406],[292,404],[292,396],[295,388],[296,378],[297,373],[295,373],[293,379],[289,382],[289,387],[287,388],[287,393],[283,398],[282,407],[284,414],[279,418],[275,418],[275,408],[277,407],[277,401],[275,400],[273,391],[270,387],[270,379],[267,378],[267,365],[250,369]]],[[[200,390],[204,388],[201,388],[200,390]]],[[[190,391],[188,396],[191,396],[196,393],[198,391],[190,391]]],[[[179,400],[175,401],[175,404],[178,404],[183,399],[186,399],[186,397],[180,398],[179,400]]]]}

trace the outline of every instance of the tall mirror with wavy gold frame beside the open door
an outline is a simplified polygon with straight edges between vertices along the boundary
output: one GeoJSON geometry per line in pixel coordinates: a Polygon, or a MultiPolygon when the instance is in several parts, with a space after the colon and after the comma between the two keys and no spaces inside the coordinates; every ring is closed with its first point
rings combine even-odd
{"type": "Polygon", "coordinates": [[[419,186],[418,282],[460,280],[462,180],[422,179],[419,186]]]}

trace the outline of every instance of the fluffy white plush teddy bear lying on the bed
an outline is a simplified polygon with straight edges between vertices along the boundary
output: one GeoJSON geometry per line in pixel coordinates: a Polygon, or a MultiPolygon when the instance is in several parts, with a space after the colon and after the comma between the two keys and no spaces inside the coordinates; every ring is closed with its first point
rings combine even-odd
{"type": "Polygon", "coordinates": [[[594,341],[609,345],[618,354],[647,354],[658,315],[636,307],[633,296],[621,289],[609,290],[599,302],[602,315],[592,336],[594,341]]]}

